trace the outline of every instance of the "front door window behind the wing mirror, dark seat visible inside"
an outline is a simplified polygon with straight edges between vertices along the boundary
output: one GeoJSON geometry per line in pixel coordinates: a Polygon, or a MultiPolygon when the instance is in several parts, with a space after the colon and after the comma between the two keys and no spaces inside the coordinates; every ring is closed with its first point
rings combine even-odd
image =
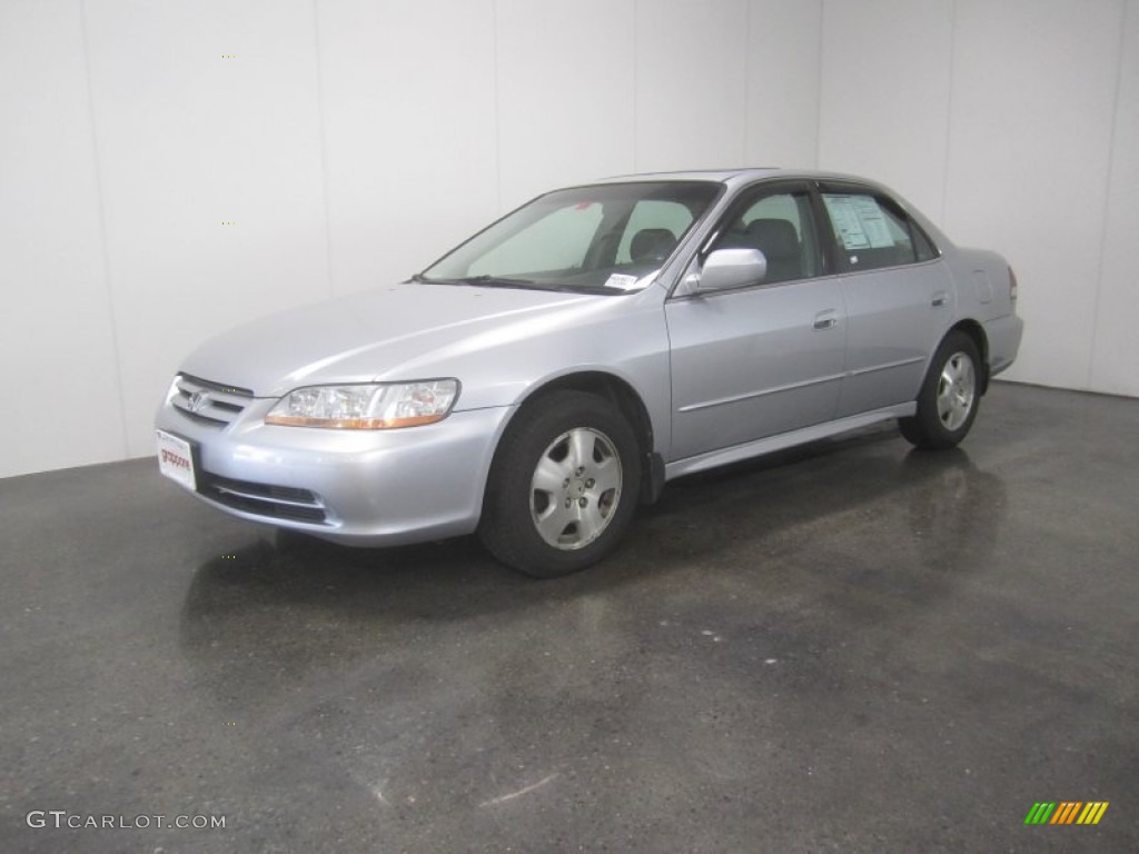
{"type": "Polygon", "coordinates": [[[768,261],[762,285],[806,279],[821,272],[813,223],[805,190],[768,192],[730,216],[712,249],[762,252],[768,261]]]}

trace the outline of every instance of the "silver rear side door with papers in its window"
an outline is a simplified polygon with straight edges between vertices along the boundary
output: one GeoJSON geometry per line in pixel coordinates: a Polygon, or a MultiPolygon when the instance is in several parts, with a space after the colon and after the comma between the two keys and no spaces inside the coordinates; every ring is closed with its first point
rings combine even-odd
{"type": "Polygon", "coordinates": [[[836,418],[912,401],[952,312],[951,279],[929,238],[883,192],[820,186],[822,229],[842,273],[846,378],[836,418]]]}

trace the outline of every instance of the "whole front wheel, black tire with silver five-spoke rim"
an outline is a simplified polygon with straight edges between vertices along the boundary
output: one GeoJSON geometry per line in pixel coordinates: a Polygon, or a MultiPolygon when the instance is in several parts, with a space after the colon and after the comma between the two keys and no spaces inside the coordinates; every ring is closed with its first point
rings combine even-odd
{"type": "Polygon", "coordinates": [[[613,405],[585,392],[528,402],[491,468],[478,535],[494,557],[536,578],[608,555],[637,509],[637,437],[613,405]]]}

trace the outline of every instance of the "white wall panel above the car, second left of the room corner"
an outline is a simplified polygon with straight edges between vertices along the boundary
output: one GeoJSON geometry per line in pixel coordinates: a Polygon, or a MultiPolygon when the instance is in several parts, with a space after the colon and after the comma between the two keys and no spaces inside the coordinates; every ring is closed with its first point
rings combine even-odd
{"type": "Polygon", "coordinates": [[[746,0],[637,3],[637,170],[744,165],[746,0]]]}

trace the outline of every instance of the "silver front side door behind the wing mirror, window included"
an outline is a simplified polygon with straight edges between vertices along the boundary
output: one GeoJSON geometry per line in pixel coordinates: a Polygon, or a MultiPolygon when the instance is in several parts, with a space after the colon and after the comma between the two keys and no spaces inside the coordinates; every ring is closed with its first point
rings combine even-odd
{"type": "Polygon", "coordinates": [[[672,298],[672,460],[731,447],[834,417],[845,311],[828,276],[806,182],[746,191],[696,263],[749,246],[767,274],[735,290],[672,298]]]}

